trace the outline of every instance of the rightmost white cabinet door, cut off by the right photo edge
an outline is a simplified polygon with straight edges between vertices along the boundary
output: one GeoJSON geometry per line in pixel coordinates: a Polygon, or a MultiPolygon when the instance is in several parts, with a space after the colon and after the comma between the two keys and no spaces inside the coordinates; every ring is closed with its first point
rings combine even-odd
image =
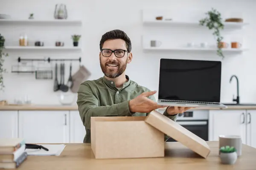
{"type": "Polygon", "coordinates": [[[256,110],[247,110],[247,144],[256,147],[256,110]]]}

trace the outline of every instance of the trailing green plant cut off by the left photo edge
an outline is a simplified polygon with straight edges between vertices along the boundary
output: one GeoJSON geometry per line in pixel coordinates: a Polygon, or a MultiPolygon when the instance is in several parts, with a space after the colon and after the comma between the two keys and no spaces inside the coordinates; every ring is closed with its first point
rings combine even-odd
{"type": "Polygon", "coordinates": [[[7,53],[3,53],[5,38],[0,34],[0,91],[3,91],[5,87],[3,84],[3,73],[6,73],[6,69],[3,68],[4,57],[7,57],[7,53]]]}

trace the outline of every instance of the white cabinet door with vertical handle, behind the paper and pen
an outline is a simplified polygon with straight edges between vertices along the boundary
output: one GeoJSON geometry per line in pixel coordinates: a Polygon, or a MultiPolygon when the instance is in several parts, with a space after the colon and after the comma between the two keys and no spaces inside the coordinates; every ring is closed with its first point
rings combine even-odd
{"type": "Polygon", "coordinates": [[[19,111],[19,136],[26,143],[69,143],[69,111],[19,111]]]}

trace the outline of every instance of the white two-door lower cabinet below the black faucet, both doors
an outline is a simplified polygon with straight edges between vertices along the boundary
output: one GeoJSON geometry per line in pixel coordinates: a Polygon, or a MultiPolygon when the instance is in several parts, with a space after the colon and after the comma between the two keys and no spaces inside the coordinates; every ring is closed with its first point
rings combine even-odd
{"type": "Polygon", "coordinates": [[[209,140],[219,135],[240,135],[242,143],[256,147],[256,110],[210,110],[209,140]]]}

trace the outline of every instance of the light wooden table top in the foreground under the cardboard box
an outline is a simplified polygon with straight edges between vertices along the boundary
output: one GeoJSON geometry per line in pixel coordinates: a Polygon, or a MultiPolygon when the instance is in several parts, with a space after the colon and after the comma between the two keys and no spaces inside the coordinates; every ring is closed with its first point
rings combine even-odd
{"type": "MultiPolygon", "coordinates": [[[[150,142],[150,141],[149,141],[150,142]]],[[[256,148],[243,144],[234,165],[220,164],[218,142],[201,158],[179,142],[166,142],[164,158],[94,159],[90,144],[67,144],[61,156],[28,156],[19,170],[256,170],[256,148]]]]}

